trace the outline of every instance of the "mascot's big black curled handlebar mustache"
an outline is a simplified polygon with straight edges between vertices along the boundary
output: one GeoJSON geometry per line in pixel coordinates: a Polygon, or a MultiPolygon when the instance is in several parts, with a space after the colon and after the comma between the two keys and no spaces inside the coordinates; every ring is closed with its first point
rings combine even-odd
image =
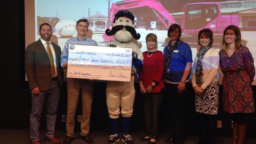
{"type": "Polygon", "coordinates": [[[112,36],[112,35],[114,35],[116,32],[118,32],[119,30],[122,30],[122,28],[125,28],[128,32],[130,32],[130,33],[132,34],[132,36],[133,36],[136,40],[140,39],[140,34],[139,34],[139,33],[137,34],[135,28],[133,28],[132,26],[117,25],[117,26],[112,27],[112,30],[106,29],[105,33],[106,33],[106,35],[108,35],[108,36],[112,36]]]}

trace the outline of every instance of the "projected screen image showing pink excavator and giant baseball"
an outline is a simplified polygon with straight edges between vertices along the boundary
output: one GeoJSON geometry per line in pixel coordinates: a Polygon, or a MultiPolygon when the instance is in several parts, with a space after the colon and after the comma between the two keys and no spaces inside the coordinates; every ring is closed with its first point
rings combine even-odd
{"type": "MultiPolygon", "coordinates": [[[[214,32],[213,47],[220,50],[224,29],[233,24],[240,28],[242,44],[247,46],[254,57],[256,66],[256,0],[224,1],[212,0],[202,2],[194,0],[28,0],[34,2],[35,31],[33,40],[38,40],[38,26],[48,22],[57,37],[58,45],[63,49],[69,38],[76,36],[76,21],[85,18],[90,22],[88,37],[96,40],[98,45],[104,46],[113,37],[106,36],[105,30],[111,29],[114,14],[127,9],[136,16],[134,24],[136,32],[140,33],[138,40],[142,52],[146,51],[146,35],[154,33],[158,36],[158,50],[163,51],[168,44],[167,30],[171,24],[179,24],[182,28],[181,40],[188,43],[193,58],[199,48],[197,34],[203,28],[210,28],[214,32]],[[49,1],[50,5],[45,5],[49,1]]],[[[25,1],[26,9],[26,1],[25,1]]],[[[27,45],[27,43],[26,43],[27,45]]],[[[221,75],[221,74],[220,74],[221,75]]],[[[254,85],[256,77],[254,77],[254,85]]]]}

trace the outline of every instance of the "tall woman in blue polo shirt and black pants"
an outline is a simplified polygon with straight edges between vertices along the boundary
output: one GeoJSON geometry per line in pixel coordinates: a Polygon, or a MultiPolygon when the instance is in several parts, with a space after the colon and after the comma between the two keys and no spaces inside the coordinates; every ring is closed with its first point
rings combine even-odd
{"type": "Polygon", "coordinates": [[[164,48],[165,96],[170,116],[170,138],[165,143],[181,144],[185,137],[184,102],[192,66],[190,46],[180,40],[181,28],[172,24],[168,29],[170,42],[164,48]]]}

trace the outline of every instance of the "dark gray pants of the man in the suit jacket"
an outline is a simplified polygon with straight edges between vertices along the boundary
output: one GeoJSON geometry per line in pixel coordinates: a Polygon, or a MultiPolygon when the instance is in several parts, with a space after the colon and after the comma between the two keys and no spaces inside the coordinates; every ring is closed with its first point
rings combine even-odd
{"type": "Polygon", "coordinates": [[[51,80],[48,90],[40,91],[38,95],[31,95],[32,110],[30,113],[30,140],[39,141],[39,125],[44,101],[46,101],[46,137],[54,136],[55,122],[57,118],[60,87],[56,78],[51,80]]]}

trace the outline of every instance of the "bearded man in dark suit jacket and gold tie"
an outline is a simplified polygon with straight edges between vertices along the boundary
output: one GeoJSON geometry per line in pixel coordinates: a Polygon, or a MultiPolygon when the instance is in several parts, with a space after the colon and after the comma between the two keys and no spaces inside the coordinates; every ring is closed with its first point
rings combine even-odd
{"type": "Polygon", "coordinates": [[[46,101],[46,137],[52,143],[60,143],[54,137],[60,86],[63,69],[60,67],[60,46],[51,42],[52,27],[48,23],[40,25],[41,38],[28,45],[25,52],[25,71],[32,96],[30,113],[30,140],[39,142],[39,125],[44,101],[46,101]]]}

